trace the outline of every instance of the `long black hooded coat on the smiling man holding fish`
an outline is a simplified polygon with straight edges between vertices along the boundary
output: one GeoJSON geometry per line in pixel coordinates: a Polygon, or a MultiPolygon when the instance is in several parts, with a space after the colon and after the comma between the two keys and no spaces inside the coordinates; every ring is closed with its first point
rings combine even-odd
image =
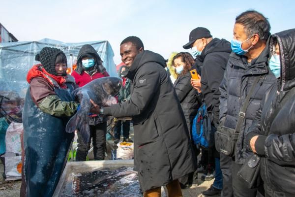
{"type": "Polygon", "coordinates": [[[134,164],[143,192],[195,170],[185,118],[164,67],[159,54],[139,53],[126,75],[132,80],[130,99],[104,108],[106,115],[132,117],[134,164]]]}

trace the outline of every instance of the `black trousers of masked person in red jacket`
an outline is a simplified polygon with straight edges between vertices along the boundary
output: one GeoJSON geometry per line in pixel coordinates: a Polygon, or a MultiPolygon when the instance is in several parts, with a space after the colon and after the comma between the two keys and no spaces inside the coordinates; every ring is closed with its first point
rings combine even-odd
{"type": "Polygon", "coordinates": [[[78,149],[76,153],[76,161],[86,161],[90,143],[92,138],[94,160],[104,160],[106,151],[106,133],[107,123],[101,123],[95,126],[90,125],[89,143],[85,144],[82,140],[80,132],[78,132],[78,149]]]}

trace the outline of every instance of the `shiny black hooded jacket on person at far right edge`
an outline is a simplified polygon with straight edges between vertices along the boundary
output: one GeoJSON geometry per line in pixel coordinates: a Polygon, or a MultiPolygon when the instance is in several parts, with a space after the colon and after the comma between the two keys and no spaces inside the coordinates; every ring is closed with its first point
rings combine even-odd
{"type": "MultiPolygon", "coordinates": [[[[267,92],[256,120],[250,127],[247,142],[259,135],[255,149],[261,160],[265,189],[272,197],[295,196],[295,29],[271,36],[270,49],[278,40],[281,80],[267,92]],[[288,99],[282,99],[288,95],[288,99]],[[283,104],[280,104],[280,103],[283,104]],[[278,113],[277,113],[278,110],[278,113]],[[274,115],[272,115],[274,114],[274,115]],[[271,121],[272,119],[272,121],[271,121]]],[[[272,54],[272,50],[270,50],[272,54]]]]}

